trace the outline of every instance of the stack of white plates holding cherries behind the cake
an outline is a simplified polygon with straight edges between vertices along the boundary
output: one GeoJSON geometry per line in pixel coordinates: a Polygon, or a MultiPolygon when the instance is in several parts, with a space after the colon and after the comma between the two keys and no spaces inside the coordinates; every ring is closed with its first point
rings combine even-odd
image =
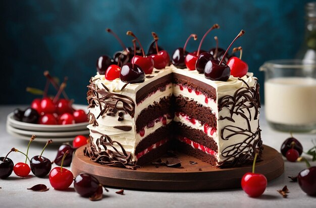
{"type": "MultiPolygon", "coordinates": [[[[86,110],[87,106],[74,105],[76,109],[86,110]]],[[[54,143],[72,142],[77,135],[89,135],[88,122],[67,125],[43,125],[17,121],[13,118],[13,112],[7,117],[7,132],[21,140],[29,141],[32,135],[36,135],[34,142],[46,143],[51,139],[54,143]]]]}

